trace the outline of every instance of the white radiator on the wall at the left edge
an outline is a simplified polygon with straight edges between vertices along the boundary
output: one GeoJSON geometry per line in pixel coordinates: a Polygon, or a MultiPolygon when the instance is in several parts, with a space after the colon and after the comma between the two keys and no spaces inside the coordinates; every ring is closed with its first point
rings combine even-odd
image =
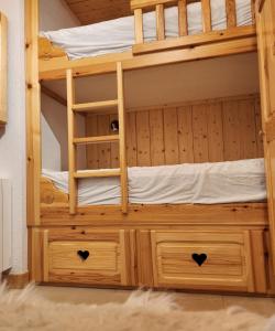
{"type": "Polygon", "coordinates": [[[11,268],[12,232],[12,190],[11,182],[0,179],[0,273],[11,268]]]}

